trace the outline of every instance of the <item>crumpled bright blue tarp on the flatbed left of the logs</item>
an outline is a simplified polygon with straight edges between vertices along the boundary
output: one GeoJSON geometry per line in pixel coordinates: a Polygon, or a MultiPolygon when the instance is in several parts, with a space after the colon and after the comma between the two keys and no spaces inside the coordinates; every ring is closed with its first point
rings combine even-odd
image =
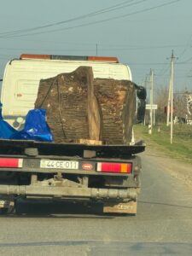
{"type": "MultiPolygon", "coordinates": [[[[1,103],[0,103],[1,104],[1,103]]],[[[16,131],[3,120],[2,104],[0,105],[0,138],[33,140],[38,142],[53,142],[53,135],[45,120],[46,110],[43,108],[32,109],[26,115],[23,130],[16,131]]]]}

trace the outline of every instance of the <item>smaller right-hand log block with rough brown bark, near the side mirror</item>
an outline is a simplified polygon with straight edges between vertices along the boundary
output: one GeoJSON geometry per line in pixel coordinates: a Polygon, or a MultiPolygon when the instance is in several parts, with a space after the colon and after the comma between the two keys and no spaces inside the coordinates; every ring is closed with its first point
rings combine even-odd
{"type": "Polygon", "coordinates": [[[128,80],[95,79],[94,88],[102,108],[102,140],[129,143],[136,111],[134,84],[128,80]]]}

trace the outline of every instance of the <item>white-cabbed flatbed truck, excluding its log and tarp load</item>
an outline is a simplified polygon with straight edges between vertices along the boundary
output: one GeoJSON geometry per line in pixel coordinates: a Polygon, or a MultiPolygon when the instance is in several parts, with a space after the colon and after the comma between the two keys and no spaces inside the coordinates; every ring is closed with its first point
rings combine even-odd
{"type": "MultiPolygon", "coordinates": [[[[22,54],[3,74],[3,119],[20,130],[34,108],[40,79],[92,67],[94,78],[132,80],[131,69],[117,58],[22,54]]],[[[136,97],[145,95],[137,86],[136,97]]],[[[145,96],[137,103],[143,119],[145,96]],[[140,101],[141,102],[141,101],[140,101]]],[[[138,121],[138,120],[137,120],[138,121]]],[[[101,202],[102,212],[137,213],[143,141],[129,144],[37,142],[0,139],[0,212],[15,211],[20,199],[101,202]]]]}

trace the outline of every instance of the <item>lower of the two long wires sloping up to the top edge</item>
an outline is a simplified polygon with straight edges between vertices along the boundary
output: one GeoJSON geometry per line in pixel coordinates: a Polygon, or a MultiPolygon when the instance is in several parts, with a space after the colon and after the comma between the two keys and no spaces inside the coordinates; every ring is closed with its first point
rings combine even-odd
{"type": "MultiPolygon", "coordinates": [[[[119,16],[115,16],[115,17],[108,18],[108,19],[105,19],[105,20],[92,21],[92,22],[84,23],[84,24],[77,25],[77,26],[68,26],[68,27],[64,27],[64,28],[60,28],[60,29],[49,30],[49,31],[46,31],[46,32],[34,32],[34,33],[21,34],[19,37],[26,37],[26,36],[30,36],[30,35],[38,35],[38,34],[43,34],[43,33],[48,33],[48,32],[65,31],[65,30],[70,30],[70,29],[73,29],[73,28],[100,24],[100,23],[103,23],[103,22],[107,22],[109,20],[119,20],[119,19],[122,19],[122,18],[125,18],[125,17],[128,17],[128,16],[131,16],[131,15],[137,15],[137,14],[141,14],[141,13],[144,13],[144,12],[148,12],[148,11],[153,10],[153,9],[159,9],[161,7],[171,5],[171,4],[177,3],[179,1],[181,1],[181,0],[173,0],[169,3],[162,3],[162,4],[159,4],[159,5],[156,5],[156,6],[153,6],[153,7],[150,7],[150,8],[146,8],[146,9],[142,9],[142,10],[138,10],[138,11],[126,14],[126,15],[119,15],[119,16]]],[[[143,1],[140,1],[140,2],[143,2],[143,1]]],[[[6,37],[6,38],[15,38],[15,36],[13,35],[13,36],[9,36],[9,37],[6,37]]]]}

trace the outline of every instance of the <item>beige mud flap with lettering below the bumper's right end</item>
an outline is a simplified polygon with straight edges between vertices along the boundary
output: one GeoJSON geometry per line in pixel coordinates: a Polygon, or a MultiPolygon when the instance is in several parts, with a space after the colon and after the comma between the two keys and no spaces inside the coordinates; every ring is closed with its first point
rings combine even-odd
{"type": "Polygon", "coordinates": [[[108,201],[108,202],[104,202],[103,212],[136,214],[137,213],[137,201],[129,201],[129,202],[108,201]]]}

